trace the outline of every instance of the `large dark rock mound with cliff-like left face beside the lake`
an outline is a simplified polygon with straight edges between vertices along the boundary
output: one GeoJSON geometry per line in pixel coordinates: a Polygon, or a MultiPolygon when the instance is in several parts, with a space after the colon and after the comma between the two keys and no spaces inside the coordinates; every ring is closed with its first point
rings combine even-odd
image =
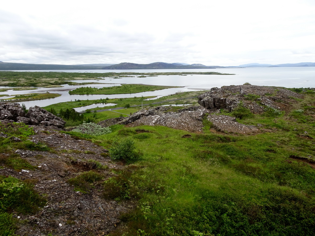
{"type": "Polygon", "coordinates": [[[221,88],[211,88],[209,92],[198,96],[198,103],[206,109],[234,110],[240,102],[251,112],[264,112],[264,106],[279,110],[289,110],[294,98],[303,98],[303,95],[281,87],[267,87],[255,85],[231,85],[221,88]]]}

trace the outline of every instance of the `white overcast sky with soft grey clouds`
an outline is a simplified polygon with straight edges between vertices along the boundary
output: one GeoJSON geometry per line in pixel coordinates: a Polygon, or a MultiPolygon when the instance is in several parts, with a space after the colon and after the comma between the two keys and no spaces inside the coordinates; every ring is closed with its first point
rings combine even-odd
{"type": "Polygon", "coordinates": [[[314,0],[12,0],[0,5],[0,61],[315,62],[314,0]]]}

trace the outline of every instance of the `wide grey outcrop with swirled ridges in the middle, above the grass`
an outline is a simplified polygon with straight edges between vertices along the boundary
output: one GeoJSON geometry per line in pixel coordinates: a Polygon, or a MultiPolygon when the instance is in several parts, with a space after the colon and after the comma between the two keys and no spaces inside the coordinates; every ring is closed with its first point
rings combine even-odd
{"type": "Polygon", "coordinates": [[[129,124],[129,126],[162,125],[190,132],[202,131],[202,119],[208,110],[200,106],[178,110],[177,112],[170,112],[169,109],[170,107],[163,106],[142,109],[119,123],[129,124]]]}

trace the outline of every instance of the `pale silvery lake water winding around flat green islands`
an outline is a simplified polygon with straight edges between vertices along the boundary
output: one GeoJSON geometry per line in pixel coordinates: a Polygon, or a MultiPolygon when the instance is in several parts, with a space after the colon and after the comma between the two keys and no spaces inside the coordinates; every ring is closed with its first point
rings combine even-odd
{"type": "MultiPolygon", "coordinates": [[[[82,72],[82,73],[106,73],[106,72],[221,72],[235,75],[169,75],[169,76],[153,76],[146,78],[139,77],[122,77],[122,78],[101,78],[97,80],[89,80],[91,82],[115,83],[102,85],[63,85],[58,88],[38,88],[37,90],[1,92],[0,94],[24,94],[24,93],[60,93],[58,98],[51,98],[39,101],[23,102],[26,107],[34,105],[47,106],[59,102],[66,102],[74,99],[92,100],[100,98],[130,98],[141,96],[165,96],[176,92],[192,91],[192,89],[206,90],[212,87],[221,87],[228,85],[240,85],[249,82],[252,85],[264,86],[280,86],[280,87],[315,87],[315,67],[263,67],[263,68],[219,68],[219,69],[186,69],[186,70],[24,70],[24,71],[56,71],[56,72],[82,72]],[[121,84],[152,84],[152,85],[169,85],[184,86],[182,88],[169,88],[152,92],[132,93],[132,94],[114,94],[114,95],[70,95],[69,90],[77,87],[109,87],[121,84]]],[[[82,80],[76,82],[86,82],[82,80]]],[[[5,86],[0,86],[3,88],[5,86]]],[[[0,98],[1,99],[1,98],[0,98]]],[[[22,103],[20,103],[22,104],[22,103]]]]}

